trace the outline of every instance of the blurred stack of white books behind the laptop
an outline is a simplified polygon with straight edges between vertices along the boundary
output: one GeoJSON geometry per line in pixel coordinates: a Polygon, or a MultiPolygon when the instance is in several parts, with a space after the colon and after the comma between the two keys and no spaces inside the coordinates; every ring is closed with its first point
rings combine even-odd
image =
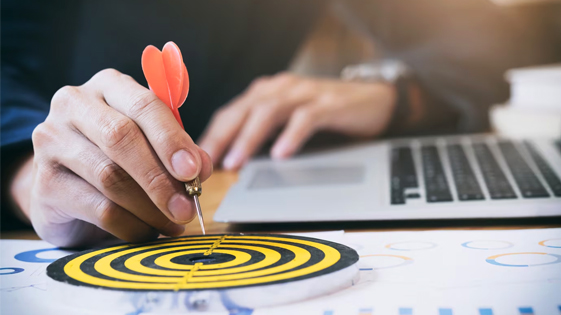
{"type": "Polygon", "coordinates": [[[510,100],[491,108],[491,126],[509,137],[561,136],[561,64],[509,70],[510,100]]]}

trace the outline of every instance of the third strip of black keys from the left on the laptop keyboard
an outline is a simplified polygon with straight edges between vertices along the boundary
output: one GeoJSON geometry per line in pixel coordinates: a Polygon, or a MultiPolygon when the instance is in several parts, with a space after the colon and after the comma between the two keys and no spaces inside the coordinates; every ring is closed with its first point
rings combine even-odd
{"type": "Polygon", "coordinates": [[[462,146],[451,144],[447,146],[447,151],[458,199],[462,201],[485,199],[462,146]]]}

